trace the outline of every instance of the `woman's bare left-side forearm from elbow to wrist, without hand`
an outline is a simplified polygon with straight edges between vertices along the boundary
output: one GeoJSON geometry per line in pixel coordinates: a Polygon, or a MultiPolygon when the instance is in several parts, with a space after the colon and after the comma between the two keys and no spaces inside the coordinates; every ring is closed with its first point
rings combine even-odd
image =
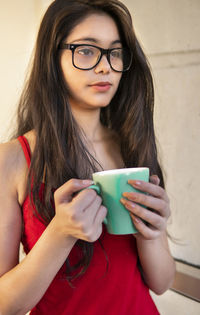
{"type": "MultiPolygon", "coordinates": [[[[8,234],[11,239],[12,231],[8,234]]],[[[22,315],[30,311],[46,292],[75,241],[72,237],[63,238],[53,222],[50,223],[24,260],[1,276],[0,314],[22,315]]],[[[1,253],[0,259],[3,259],[1,253]]],[[[4,267],[7,265],[8,260],[4,261],[4,267]]]]}

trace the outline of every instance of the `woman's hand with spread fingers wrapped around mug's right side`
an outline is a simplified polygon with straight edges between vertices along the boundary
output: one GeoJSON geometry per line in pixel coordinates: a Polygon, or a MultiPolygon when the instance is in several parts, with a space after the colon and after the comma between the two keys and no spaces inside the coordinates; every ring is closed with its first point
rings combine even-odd
{"type": "Polygon", "coordinates": [[[129,180],[128,183],[135,189],[147,193],[124,192],[123,196],[126,199],[121,198],[120,200],[125,208],[130,211],[133,223],[139,232],[134,236],[144,240],[153,240],[160,237],[166,231],[167,220],[171,211],[169,198],[165,190],[159,186],[158,176],[152,175],[149,183],[136,180],[129,180]]]}

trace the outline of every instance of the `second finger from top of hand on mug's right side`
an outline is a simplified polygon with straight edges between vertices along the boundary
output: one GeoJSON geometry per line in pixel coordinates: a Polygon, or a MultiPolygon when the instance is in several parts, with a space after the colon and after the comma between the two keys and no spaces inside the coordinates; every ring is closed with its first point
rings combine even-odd
{"type": "Polygon", "coordinates": [[[122,195],[134,203],[156,210],[163,217],[170,215],[168,203],[163,199],[136,192],[125,192],[122,195]]]}

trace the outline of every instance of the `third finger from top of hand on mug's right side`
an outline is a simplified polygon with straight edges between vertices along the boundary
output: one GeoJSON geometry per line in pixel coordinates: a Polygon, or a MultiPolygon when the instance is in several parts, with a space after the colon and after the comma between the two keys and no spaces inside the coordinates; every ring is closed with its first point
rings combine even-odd
{"type": "MultiPolygon", "coordinates": [[[[124,199],[125,200],[125,199],[124,199]]],[[[139,217],[140,219],[144,220],[146,223],[150,224],[157,230],[163,230],[166,225],[166,218],[161,217],[157,213],[143,208],[137,204],[134,204],[127,200],[122,200],[122,203],[129,210],[133,215],[139,217]]]]}

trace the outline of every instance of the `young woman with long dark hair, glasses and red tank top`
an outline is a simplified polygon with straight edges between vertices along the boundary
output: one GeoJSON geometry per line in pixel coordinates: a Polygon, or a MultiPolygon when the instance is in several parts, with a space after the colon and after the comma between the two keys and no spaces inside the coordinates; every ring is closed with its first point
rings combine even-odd
{"type": "Polygon", "coordinates": [[[50,5],[0,174],[1,315],[158,314],[149,288],[162,294],[175,272],[169,200],[152,77],[121,2],[50,5]],[[94,171],[137,166],[150,168],[150,183],[130,184],[148,194],[121,202],[138,234],[110,235],[101,198],[82,189],[94,171]]]}

